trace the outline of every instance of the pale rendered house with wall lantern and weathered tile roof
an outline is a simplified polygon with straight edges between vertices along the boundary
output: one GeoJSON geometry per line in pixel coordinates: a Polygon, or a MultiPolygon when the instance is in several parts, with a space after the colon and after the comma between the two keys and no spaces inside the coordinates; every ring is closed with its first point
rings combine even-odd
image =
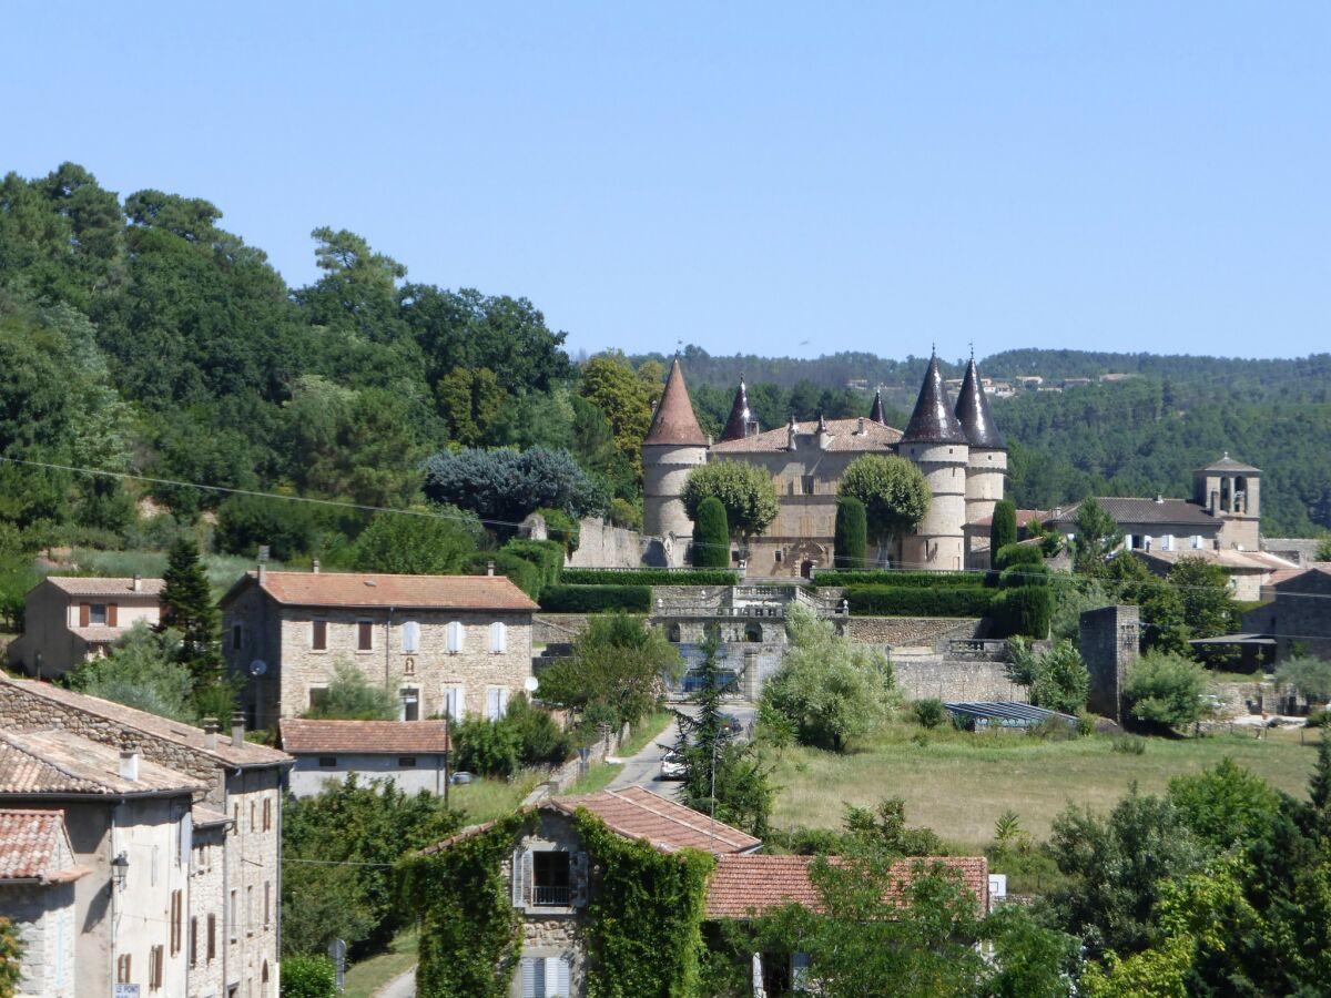
{"type": "Polygon", "coordinates": [[[73,993],[189,994],[190,809],[205,785],[61,729],[0,732],[0,806],[64,812],[75,861],[73,993]]]}

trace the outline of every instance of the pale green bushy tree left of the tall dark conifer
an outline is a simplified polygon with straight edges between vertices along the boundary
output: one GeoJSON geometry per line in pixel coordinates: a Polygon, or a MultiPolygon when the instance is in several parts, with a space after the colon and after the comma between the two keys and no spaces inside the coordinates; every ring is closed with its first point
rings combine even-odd
{"type": "Polygon", "coordinates": [[[194,676],[180,661],[178,631],[154,632],[136,623],[112,645],[105,659],[93,659],[69,673],[71,688],[102,700],[193,724],[194,676]]]}

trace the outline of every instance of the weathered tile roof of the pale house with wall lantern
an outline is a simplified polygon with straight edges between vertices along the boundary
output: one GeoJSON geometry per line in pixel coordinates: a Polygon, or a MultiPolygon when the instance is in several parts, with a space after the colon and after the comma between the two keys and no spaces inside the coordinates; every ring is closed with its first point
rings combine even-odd
{"type": "Polygon", "coordinates": [[[120,749],[72,732],[0,732],[0,794],[141,794],[208,786],[140,757],[138,778],[120,776],[120,749]]]}

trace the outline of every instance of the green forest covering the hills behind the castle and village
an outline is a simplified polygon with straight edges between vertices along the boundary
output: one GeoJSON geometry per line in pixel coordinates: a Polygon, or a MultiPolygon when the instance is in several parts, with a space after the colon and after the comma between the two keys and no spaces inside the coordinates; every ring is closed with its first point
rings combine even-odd
{"type": "MultiPolygon", "coordinates": [[[[290,287],[221,220],[196,197],[121,197],[75,164],[0,182],[0,558],[53,544],[165,547],[162,523],[188,528],[209,512],[222,550],[252,556],[262,530],[285,530],[287,559],[338,563],[369,511],[315,508],[293,528],[252,498],[196,484],[465,506],[469,475],[518,474],[512,462],[484,464],[498,447],[532,455],[524,474],[559,483],[528,506],[640,523],[639,442],[664,355],[574,363],[566,334],[526,298],[413,282],[382,248],[331,226],[311,233],[321,277],[290,287]]],[[[683,359],[713,432],[741,373],[767,427],[791,414],[866,414],[851,378],[885,382],[889,422],[901,426],[925,365],[712,358],[693,346],[683,359]]],[[[1268,534],[1331,527],[1327,355],[1024,350],[981,363],[992,377],[1138,375],[996,403],[1020,506],[1090,491],[1185,495],[1190,470],[1229,450],[1266,471],[1268,534]]],[[[450,515],[502,520],[488,524],[502,539],[530,511],[523,499],[450,515]]]]}

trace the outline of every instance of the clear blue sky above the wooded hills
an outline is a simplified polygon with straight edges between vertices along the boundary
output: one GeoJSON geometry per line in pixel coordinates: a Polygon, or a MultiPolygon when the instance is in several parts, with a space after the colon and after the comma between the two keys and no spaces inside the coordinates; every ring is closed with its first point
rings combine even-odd
{"type": "Polygon", "coordinates": [[[1328,349],[1331,5],[31,3],[0,170],[531,298],[574,350],[1328,349]]]}

